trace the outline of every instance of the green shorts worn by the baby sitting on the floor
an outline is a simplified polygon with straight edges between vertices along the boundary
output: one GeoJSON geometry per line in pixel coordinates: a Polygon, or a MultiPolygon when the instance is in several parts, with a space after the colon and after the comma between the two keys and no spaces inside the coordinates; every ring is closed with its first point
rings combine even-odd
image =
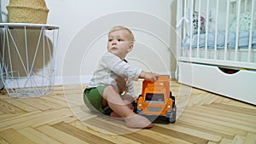
{"type": "Polygon", "coordinates": [[[109,115],[112,111],[110,107],[102,107],[102,94],[106,86],[84,89],[84,103],[93,112],[101,112],[109,115]]]}

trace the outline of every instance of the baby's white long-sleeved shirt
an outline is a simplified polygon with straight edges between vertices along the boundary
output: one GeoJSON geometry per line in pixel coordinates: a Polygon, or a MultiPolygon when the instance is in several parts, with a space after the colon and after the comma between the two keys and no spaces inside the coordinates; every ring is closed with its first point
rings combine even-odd
{"type": "Polygon", "coordinates": [[[105,53],[99,61],[88,88],[112,85],[119,94],[135,95],[133,81],[139,78],[142,69],[131,66],[112,53],[105,53]]]}

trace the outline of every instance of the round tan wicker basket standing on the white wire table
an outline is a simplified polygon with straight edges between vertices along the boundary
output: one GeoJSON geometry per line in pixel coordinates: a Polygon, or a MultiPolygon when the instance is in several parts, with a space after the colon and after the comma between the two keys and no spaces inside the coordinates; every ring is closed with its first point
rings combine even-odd
{"type": "Polygon", "coordinates": [[[47,23],[49,9],[44,0],[10,0],[6,8],[11,23],[47,23]]]}

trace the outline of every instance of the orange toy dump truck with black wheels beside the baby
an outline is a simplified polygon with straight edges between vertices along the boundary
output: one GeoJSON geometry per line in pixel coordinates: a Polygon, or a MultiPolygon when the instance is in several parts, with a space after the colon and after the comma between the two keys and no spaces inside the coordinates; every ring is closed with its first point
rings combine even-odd
{"type": "Polygon", "coordinates": [[[143,81],[142,95],[138,97],[134,112],[146,117],[166,117],[169,123],[175,123],[175,97],[170,91],[168,75],[160,75],[154,83],[143,81]]]}

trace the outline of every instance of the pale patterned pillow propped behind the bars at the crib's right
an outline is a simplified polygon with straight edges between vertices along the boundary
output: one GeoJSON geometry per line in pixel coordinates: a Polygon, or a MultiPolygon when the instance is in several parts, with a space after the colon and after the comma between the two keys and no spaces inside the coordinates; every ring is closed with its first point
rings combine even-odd
{"type": "MultiPolygon", "coordinates": [[[[249,31],[250,26],[251,26],[251,12],[244,12],[240,14],[240,19],[239,19],[239,31],[249,31]]],[[[231,32],[236,32],[236,22],[237,22],[237,17],[235,20],[232,22],[230,26],[230,31],[231,32]]],[[[256,29],[256,14],[254,14],[254,26],[253,29],[256,29]]]]}

